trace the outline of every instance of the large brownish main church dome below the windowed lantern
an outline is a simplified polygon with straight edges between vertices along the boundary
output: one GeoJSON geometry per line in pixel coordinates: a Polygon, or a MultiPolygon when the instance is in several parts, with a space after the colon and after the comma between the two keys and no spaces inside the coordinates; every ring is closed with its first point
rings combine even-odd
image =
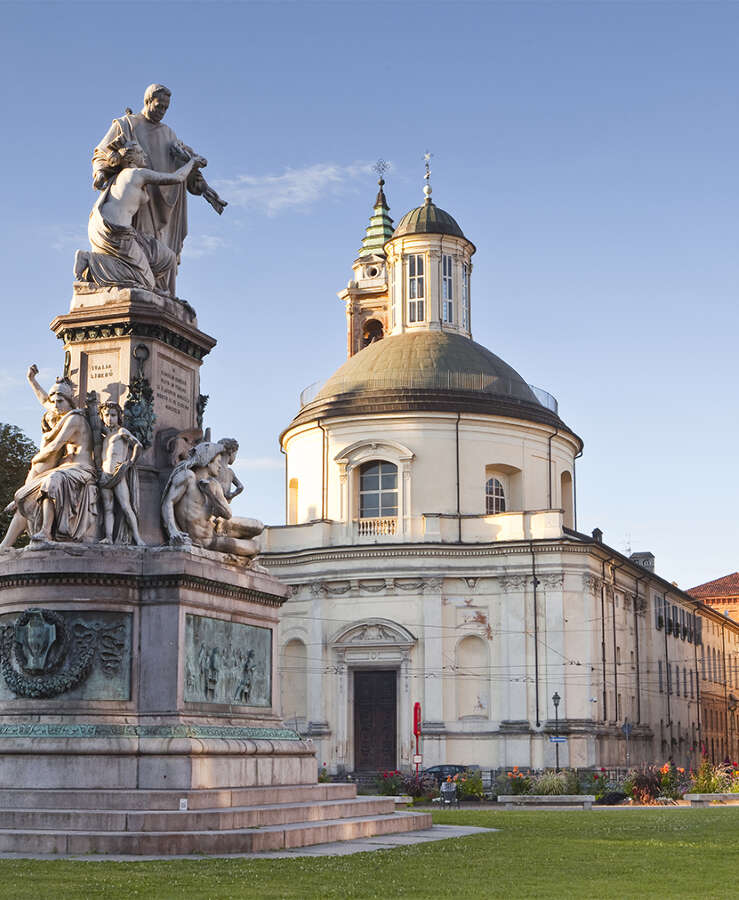
{"type": "Polygon", "coordinates": [[[529,386],[508,363],[462,335],[428,330],[391,335],[350,357],[317,390],[304,392],[290,427],[316,418],[410,411],[503,415],[569,431],[556,400],[529,386]]]}

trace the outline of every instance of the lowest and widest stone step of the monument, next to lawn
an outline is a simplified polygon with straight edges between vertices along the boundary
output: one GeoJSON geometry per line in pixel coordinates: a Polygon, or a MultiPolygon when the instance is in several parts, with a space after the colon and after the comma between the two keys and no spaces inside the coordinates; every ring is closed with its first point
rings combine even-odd
{"type": "Polygon", "coordinates": [[[131,856],[218,855],[255,853],[398,834],[431,827],[429,813],[298,822],[265,828],[225,831],[94,832],[53,829],[0,829],[0,853],[55,855],[121,854],[131,856]]]}

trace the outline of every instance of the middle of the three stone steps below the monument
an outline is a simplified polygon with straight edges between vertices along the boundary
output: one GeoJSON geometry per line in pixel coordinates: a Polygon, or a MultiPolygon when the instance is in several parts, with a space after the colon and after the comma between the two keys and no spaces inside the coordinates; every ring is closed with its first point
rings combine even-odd
{"type": "Polygon", "coordinates": [[[274,803],[211,810],[0,809],[0,829],[42,831],[233,831],[392,813],[392,797],[274,803]]]}

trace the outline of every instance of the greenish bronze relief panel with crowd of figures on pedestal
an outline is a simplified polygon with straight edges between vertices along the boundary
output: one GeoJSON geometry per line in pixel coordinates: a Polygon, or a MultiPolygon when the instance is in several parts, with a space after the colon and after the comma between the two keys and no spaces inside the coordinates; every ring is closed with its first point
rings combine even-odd
{"type": "Polygon", "coordinates": [[[188,615],[185,702],[272,705],[272,631],[188,615]]]}

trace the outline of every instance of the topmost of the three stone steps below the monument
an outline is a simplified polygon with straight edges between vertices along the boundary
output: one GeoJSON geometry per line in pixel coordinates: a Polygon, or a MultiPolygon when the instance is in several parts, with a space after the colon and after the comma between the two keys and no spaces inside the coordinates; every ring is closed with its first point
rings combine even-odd
{"type": "Polygon", "coordinates": [[[192,791],[2,788],[0,809],[179,811],[181,799],[187,800],[189,810],[198,810],[280,802],[351,800],[356,794],[356,785],[350,782],[192,791]]]}

